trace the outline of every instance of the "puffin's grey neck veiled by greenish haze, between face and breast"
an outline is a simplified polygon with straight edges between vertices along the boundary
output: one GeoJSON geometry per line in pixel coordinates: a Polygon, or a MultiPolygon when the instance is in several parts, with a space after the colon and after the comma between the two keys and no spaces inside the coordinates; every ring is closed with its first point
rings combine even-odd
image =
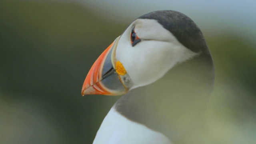
{"type": "Polygon", "coordinates": [[[213,64],[200,56],[175,66],[160,80],[131,90],[114,105],[134,122],[180,142],[204,127],[214,80],[213,64]]]}

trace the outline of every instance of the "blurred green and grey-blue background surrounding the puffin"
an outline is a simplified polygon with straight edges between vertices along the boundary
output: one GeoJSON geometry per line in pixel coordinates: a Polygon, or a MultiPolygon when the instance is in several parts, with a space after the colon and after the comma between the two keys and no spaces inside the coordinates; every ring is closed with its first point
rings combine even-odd
{"type": "Polygon", "coordinates": [[[119,97],[81,96],[94,60],[138,16],[188,15],[216,67],[208,144],[256,142],[255,0],[1,0],[0,144],[90,144],[119,97]]]}

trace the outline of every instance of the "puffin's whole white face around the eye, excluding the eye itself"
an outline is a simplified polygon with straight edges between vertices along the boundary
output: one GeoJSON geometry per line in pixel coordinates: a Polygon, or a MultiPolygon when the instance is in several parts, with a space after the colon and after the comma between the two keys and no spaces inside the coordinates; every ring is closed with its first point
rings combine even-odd
{"type": "Polygon", "coordinates": [[[164,76],[175,64],[198,55],[183,46],[157,20],[137,19],[121,35],[116,48],[120,61],[130,76],[133,88],[151,84],[164,76]],[[131,32],[141,39],[131,44],[131,32]]]}

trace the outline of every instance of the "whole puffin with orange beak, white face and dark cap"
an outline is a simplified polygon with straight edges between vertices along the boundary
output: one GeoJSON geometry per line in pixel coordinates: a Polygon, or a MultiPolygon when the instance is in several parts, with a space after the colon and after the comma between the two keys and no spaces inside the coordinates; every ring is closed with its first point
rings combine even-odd
{"type": "Polygon", "coordinates": [[[173,10],[142,15],[84,80],[82,96],[120,96],[93,144],[204,143],[213,86],[212,56],[195,22],[173,10]]]}

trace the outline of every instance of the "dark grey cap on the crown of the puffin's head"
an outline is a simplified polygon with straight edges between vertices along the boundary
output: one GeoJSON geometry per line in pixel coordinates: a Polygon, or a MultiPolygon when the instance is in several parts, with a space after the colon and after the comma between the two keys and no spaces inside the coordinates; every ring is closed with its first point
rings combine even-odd
{"type": "Polygon", "coordinates": [[[157,20],[177,40],[193,52],[209,53],[204,36],[198,26],[185,14],[173,10],[150,12],[141,19],[157,20]]]}

